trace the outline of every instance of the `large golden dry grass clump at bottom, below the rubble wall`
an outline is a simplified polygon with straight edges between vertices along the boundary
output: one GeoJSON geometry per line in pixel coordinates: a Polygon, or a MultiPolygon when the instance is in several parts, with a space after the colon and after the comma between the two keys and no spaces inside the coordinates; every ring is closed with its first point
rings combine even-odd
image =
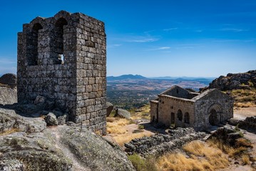
{"type": "Polygon", "coordinates": [[[181,153],[163,155],[158,159],[160,170],[216,170],[225,168],[229,164],[225,154],[206,143],[193,141],[183,146],[183,150],[190,154],[186,157],[181,153]]]}

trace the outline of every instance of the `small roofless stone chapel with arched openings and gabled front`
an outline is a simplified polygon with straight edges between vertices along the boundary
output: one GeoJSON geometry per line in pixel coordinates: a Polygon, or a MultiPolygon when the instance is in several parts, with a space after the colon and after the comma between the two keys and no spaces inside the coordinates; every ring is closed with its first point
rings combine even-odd
{"type": "Polygon", "coordinates": [[[233,99],[217,89],[193,93],[173,86],[150,101],[150,120],[165,127],[205,130],[233,117],[233,99]]]}

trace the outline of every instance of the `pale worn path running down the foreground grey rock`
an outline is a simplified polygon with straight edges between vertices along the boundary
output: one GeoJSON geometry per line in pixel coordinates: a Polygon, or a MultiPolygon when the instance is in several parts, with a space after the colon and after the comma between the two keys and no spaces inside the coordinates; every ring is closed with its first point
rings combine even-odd
{"type": "MultiPolygon", "coordinates": [[[[61,127],[60,125],[58,127],[61,127]]],[[[71,152],[71,150],[68,149],[68,147],[65,147],[65,145],[63,145],[61,143],[61,140],[60,140],[60,133],[58,132],[58,128],[57,127],[53,127],[51,128],[52,130],[52,134],[55,135],[56,137],[56,144],[55,144],[55,147],[60,149],[64,155],[66,157],[68,157],[69,160],[72,161],[73,163],[73,166],[72,166],[72,170],[74,171],[90,171],[90,169],[85,169],[85,166],[83,166],[79,160],[76,158],[75,155],[73,155],[73,152],[71,152]]]]}

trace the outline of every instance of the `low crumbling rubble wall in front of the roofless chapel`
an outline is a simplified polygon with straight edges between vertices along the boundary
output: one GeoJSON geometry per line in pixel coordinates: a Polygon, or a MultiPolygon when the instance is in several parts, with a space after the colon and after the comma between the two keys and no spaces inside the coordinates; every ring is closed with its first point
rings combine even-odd
{"type": "Polygon", "coordinates": [[[178,128],[170,130],[170,135],[153,135],[131,140],[125,144],[126,152],[133,152],[146,157],[147,155],[163,155],[165,152],[175,150],[187,142],[205,137],[205,133],[195,133],[193,128],[178,128]]]}

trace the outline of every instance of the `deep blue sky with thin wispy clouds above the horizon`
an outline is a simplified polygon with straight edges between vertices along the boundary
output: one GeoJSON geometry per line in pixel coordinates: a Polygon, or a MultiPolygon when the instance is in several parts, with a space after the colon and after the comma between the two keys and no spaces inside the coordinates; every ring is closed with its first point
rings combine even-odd
{"type": "Polygon", "coordinates": [[[36,16],[106,24],[107,75],[217,77],[256,69],[256,1],[1,1],[0,75],[16,73],[17,32],[36,16]]]}

